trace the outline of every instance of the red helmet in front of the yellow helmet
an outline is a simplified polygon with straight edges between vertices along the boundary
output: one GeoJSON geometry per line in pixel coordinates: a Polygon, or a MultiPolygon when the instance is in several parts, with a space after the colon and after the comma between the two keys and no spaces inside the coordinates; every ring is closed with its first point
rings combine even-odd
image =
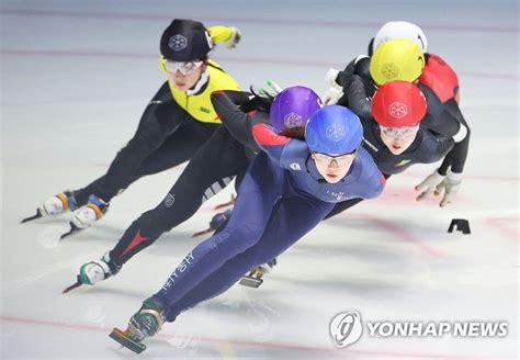
{"type": "Polygon", "coordinates": [[[417,125],[425,117],[427,102],[412,82],[394,80],[377,89],[372,99],[372,117],[386,127],[417,125]]]}

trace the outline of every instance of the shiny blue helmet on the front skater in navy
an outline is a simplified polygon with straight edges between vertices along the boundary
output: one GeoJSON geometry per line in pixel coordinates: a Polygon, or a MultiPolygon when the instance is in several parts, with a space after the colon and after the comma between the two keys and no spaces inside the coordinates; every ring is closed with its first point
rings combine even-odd
{"type": "Polygon", "coordinates": [[[305,127],[305,140],[313,153],[352,153],[360,147],[362,139],[360,119],[340,105],[321,108],[310,116],[305,127]]]}

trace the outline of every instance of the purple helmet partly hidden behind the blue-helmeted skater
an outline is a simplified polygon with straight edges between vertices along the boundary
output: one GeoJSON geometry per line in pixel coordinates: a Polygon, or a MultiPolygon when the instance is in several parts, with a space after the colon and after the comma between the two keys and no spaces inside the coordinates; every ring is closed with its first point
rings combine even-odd
{"type": "Polygon", "coordinates": [[[284,128],[305,126],[307,120],[321,108],[321,99],[305,87],[291,87],[280,92],[271,105],[271,126],[278,133],[284,128]]]}

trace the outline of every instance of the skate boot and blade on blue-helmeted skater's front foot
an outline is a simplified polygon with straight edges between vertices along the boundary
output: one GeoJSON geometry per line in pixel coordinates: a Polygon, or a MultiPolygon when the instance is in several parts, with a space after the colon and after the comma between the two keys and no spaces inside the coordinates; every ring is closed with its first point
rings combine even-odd
{"type": "Polygon", "coordinates": [[[139,311],[131,317],[126,330],[114,327],[110,337],[125,348],[140,353],[146,349],[142,341],[159,333],[165,320],[162,306],[150,297],[145,300],[139,311]]]}

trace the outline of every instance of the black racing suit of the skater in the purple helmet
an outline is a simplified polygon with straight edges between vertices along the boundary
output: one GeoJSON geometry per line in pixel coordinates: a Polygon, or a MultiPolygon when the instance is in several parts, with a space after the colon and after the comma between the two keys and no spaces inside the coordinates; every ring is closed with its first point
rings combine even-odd
{"type": "Polygon", "coordinates": [[[118,271],[160,235],[190,218],[205,200],[226,187],[234,177],[239,182],[250,159],[260,150],[251,136],[251,127],[253,124],[269,123],[269,111],[256,108],[245,92],[218,91],[212,99],[224,126],[193,155],[165,199],[155,209],[143,213],[125,230],[109,252],[112,272],[118,271]],[[234,102],[241,103],[241,109],[234,102]]]}

